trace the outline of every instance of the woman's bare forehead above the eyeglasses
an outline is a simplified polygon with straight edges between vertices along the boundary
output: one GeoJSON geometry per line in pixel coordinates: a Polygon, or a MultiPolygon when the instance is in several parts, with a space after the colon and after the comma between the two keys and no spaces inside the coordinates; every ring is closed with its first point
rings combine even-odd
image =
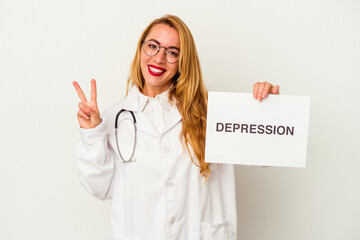
{"type": "Polygon", "coordinates": [[[180,48],[179,33],[173,27],[167,24],[157,24],[149,32],[145,41],[154,39],[164,47],[177,47],[180,48]]]}

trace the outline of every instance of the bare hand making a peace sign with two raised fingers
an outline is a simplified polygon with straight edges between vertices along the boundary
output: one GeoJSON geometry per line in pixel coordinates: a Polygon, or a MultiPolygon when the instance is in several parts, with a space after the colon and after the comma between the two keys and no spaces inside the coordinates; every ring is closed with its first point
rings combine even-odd
{"type": "Polygon", "coordinates": [[[79,111],[77,113],[77,119],[80,127],[90,129],[98,126],[101,123],[100,112],[96,101],[96,81],[91,79],[91,98],[88,101],[82,91],[80,85],[77,82],[73,82],[75,90],[81,100],[79,103],[79,111]]]}

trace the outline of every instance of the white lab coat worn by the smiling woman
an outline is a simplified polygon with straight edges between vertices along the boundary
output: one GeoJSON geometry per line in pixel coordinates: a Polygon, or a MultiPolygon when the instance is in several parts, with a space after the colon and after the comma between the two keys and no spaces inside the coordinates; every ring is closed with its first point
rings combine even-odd
{"type": "MultiPolygon", "coordinates": [[[[169,110],[159,134],[141,111],[139,91],[103,114],[94,129],[80,129],[76,156],[80,182],[92,195],[112,199],[112,240],[235,240],[237,214],[233,165],[212,164],[206,183],[179,140],[181,115],[169,110]],[[136,161],[120,160],[114,134],[120,109],[137,120],[136,161]]],[[[122,113],[120,119],[130,118],[122,113]]],[[[133,129],[124,121],[119,146],[125,158],[133,144],[133,129]]],[[[221,151],[221,149],[219,149],[221,151]]]]}

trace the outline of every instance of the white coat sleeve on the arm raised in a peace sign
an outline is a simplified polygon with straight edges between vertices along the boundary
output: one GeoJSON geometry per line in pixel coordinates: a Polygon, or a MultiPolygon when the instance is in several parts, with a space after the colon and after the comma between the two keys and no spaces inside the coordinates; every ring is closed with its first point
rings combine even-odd
{"type": "Polygon", "coordinates": [[[114,151],[109,148],[106,119],[93,129],[80,128],[82,141],[76,148],[80,182],[95,197],[112,197],[114,185],[114,151]]]}

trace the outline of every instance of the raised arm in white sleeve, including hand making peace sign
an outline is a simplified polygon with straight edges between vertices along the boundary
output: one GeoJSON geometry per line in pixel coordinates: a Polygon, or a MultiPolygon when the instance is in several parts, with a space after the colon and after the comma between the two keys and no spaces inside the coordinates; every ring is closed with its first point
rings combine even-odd
{"type": "Polygon", "coordinates": [[[91,80],[91,99],[88,101],[77,82],[73,82],[81,100],[77,119],[82,142],[76,149],[80,169],[80,182],[92,195],[100,199],[112,196],[114,175],[114,152],[108,147],[108,127],[100,118],[96,101],[96,82],[91,80]]]}

